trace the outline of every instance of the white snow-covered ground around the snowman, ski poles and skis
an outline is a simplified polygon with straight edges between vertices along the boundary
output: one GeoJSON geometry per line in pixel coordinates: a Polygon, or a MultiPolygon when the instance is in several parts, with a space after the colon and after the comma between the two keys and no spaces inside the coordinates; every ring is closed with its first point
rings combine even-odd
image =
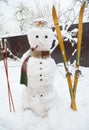
{"type": "MultiPolygon", "coordinates": [[[[0,130],[48,130],[46,118],[22,111],[21,96],[24,85],[20,84],[21,62],[8,59],[9,80],[16,112],[9,112],[8,91],[3,61],[0,61],[0,130]]],[[[89,130],[89,68],[80,67],[82,75],[77,87],[77,111],[70,108],[70,95],[62,64],[59,64],[55,86],[59,95],[59,130],[89,130]]],[[[74,67],[70,67],[74,73],[74,67]]],[[[54,119],[53,119],[54,122],[54,119]]]]}

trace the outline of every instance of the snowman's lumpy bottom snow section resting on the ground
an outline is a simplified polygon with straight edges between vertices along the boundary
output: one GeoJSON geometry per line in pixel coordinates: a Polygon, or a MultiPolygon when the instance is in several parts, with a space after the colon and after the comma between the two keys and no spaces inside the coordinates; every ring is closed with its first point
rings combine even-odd
{"type": "Polygon", "coordinates": [[[23,93],[23,110],[30,110],[35,113],[36,116],[46,117],[51,109],[56,108],[56,104],[57,96],[54,90],[53,92],[40,94],[27,87],[23,93]]]}

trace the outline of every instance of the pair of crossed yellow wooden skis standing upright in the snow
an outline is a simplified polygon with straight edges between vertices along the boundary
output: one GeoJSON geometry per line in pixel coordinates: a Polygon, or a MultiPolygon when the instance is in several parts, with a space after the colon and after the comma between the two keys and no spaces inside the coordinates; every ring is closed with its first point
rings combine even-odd
{"type": "Polygon", "coordinates": [[[56,9],[55,9],[54,6],[52,8],[52,16],[53,16],[54,26],[55,26],[55,29],[56,29],[56,34],[57,34],[57,37],[58,37],[60,49],[61,49],[63,60],[64,60],[64,67],[65,67],[65,70],[67,72],[66,76],[67,76],[67,81],[68,81],[68,86],[69,86],[69,91],[70,91],[70,96],[71,96],[71,108],[73,110],[77,110],[76,102],[75,102],[75,95],[76,95],[78,77],[79,77],[79,74],[80,74],[80,71],[78,70],[78,68],[79,68],[79,61],[80,61],[81,40],[82,40],[82,21],[83,21],[84,8],[85,8],[85,2],[81,6],[81,9],[80,9],[80,12],[79,12],[78,44],[77,44],[77,54],[76,54],[77,59],[76,59],[76,71],[75,71],[75,76],[74,76],[73,87],[72,87],[71,74],[69,73],[68,68],[67,68],[66,52],[65,52],[65,47],[64,47],[64,42],[63,42],[60,26],[59,26],[59,23],[58,23],[58,17],[57,17],[56,9]]]}

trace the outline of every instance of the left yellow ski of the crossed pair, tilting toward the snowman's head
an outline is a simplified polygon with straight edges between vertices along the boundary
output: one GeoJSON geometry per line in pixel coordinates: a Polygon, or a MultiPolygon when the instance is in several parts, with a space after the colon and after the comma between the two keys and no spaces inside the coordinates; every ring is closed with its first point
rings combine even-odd
{"type": "Polygon", "coordinates": [[[53,21],[54,21],[54,26],[56,29],[56,34],[58,37],[58,41],[59,41],[59,45],[60,45],[60,49],[62,52],[62,56],[63,56],[63,60],[64,60],[64,67],[66,70],[66,77],[67,77],[67,81],[68,81],[68,86],[69,86],[69,91],[70,91],[70,97],[72,100],[72,80],[71,80],[71,74],[67,68],[67,58],[66,58],[66,52],[65,52],[65,47],[64,47],[64,42],[63,42],[63,38],[62,38],[62,34],[61,34],[61,30],[60,30],[60,26],[58,24],[58,17],[57,17],[57,13],[56,13],[56,9],[53,6],[52,8],[52,16],[53,16],[53,21]]]}

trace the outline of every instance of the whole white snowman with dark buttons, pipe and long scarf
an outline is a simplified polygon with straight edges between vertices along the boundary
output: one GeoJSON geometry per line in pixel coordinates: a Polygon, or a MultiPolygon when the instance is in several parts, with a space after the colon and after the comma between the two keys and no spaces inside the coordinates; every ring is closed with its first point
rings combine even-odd
{"type": "Polygon", "coordinates": [[[50,28],[42,25],[29,30],[28,40],[30,50],[25,54],[21,68],[21,83],[26,85],[23,109],[36,116],[49,117],[54,115],[58,100],[54,84],[57,66],[51,57],[55,48],[52,48],[52,42],[56,37],[50,28]]]}

